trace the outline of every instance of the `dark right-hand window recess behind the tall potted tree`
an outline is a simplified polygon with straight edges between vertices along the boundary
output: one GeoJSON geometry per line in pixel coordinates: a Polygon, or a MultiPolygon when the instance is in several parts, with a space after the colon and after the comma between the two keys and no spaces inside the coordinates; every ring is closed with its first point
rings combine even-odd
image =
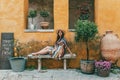
{"type": "Polygon", "coordinates": [[[94,21],[94,0],[69,0],[69,29],[78,19],[94,21]]]}

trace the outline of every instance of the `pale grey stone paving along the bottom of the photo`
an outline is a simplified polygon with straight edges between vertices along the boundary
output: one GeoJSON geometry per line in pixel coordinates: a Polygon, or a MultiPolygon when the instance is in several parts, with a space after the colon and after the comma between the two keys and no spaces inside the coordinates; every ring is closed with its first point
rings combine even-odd
{"type": "Polygon", "coordinates": [[[109,77],[99,77],[96,74],[83,74],[75,69],[47,69],[41,72],[0,70],[0,80],[120,80],[120,74],[110,73],[109,77]]]}

